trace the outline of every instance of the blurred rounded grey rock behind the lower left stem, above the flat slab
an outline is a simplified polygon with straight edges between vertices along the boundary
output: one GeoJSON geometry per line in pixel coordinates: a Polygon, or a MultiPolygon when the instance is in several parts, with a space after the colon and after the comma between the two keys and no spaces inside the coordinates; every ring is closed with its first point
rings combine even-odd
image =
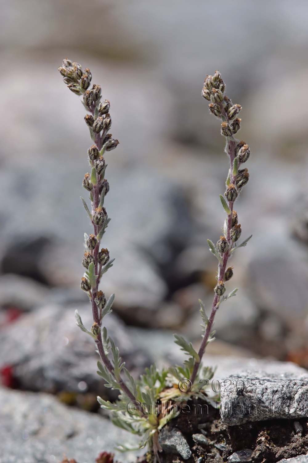
{"type": "MultiPolygon", "coordinates": [[[[89,304],[71,309],[48,305],[24,315],[0,332],[1,363],[13,366],[14,377],[21,388],[106,393],[96,373],[98,356],[95,345],[92,338],[76,326],[75,308],[79,309],[85,326],[90,328],[93,321],[89,304]]],[[[128,364],[133,366],[134,347],[123,322],[111,314],[106,317],[106,326],[123,357],[128,360],[132,354],[128,364]]],[[[145,355],[139,356],[138,360],[140,364],[149,362],[145,355]]]]}

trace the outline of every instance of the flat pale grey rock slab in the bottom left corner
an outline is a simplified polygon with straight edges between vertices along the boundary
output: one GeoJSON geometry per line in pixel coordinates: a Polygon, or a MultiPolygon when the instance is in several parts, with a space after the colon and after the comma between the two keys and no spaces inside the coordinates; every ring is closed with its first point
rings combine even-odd
{"type": "MultiPolygon", "coordinates": [[[[129,441],[137,443],[108,419],[68,408],[52,395],[0,389],[0,463],[58,463],[64,457],[92,463],[100,452],[129,441]]],[[[119,462],[134,461],[131,452],[115,453],[119,462]]]]}

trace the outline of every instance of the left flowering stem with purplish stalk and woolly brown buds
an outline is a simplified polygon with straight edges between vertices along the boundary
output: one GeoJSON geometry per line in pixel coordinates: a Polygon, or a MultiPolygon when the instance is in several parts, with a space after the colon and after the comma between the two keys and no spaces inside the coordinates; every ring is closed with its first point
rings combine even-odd
{"type": "MultiPolygon", "coordinates": [[[[106,306],[106,298],[102,291],[98,291],[98,285],[101,279],[101,270],[104,265],[109,262],[109,251],[107,249],[99,250],[101,238],[105,227],[108,225],[108,218],[105,208],[100,207],[103,204],[104,196],[109,191],[109,183],[104,180],[104,171],[106,167],[105,160],[102,156],[105,151],[111,151],[118,145],[119,141],[114,140],[112,135],[108,134],[111,126],[111,118],[109,114],[110,102],[104,100],[101,102],[101,87],[93,85],[91,90],[88,90],[92,79],[90,69],[85,69],[83,72],[79,63],[72,63],[67,58],[63,60],[63,66],[59,68],[60,74],[63,76],[63,81],[67,87],[77,95],[83,95],[83,104],[88,113],[85,116],[85,123],[88,125],[91,133],[93,144],[89,150],[89,163],[91,166],[91,175],[85,174],[83,186],[90,192],[92,203],[92,211],[90,213],[88,206],[83,200],[87,213],[91,217],[94,234],[90,235],[86,241],[87,251],[84,254],[83,265],[88,270],[85,276],[81,279],[81,289],[89,295],[92,306],[93,325],[91,332],[85,329],[81,319],[78,322],[83,331],[88,332],[95,339],[98,353],[101,360],[108,370],[111,378],[113,378],[117,387],[123,391],[130,400],[136,401],[134,394],[127,387],[121,376],[121,357],[118,350],[113,350],[114,365],[108,358],[106,353],[101,325],[103,317],[103,309],[106,306]],[[81,324],[81,325],[80,325],[81,324]],[[116,371],[116,373],[115,373],[116,371]]],[[[108,268],[106,268],[107,270],[108,268]]],[[[111,303],[109,312],[111,311],[111,303]]],[[[107,311],[108,312],[108,311],[107,311]]],[[[108,312],[108,313],[109,313],[108,312]]],[[[106,339],[107,344],[111,343],[110,338],[106,339]]]]}

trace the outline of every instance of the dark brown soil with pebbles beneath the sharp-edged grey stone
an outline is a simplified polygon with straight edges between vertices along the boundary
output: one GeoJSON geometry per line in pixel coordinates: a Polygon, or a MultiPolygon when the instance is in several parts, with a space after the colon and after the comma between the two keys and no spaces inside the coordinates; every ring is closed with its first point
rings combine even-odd
{"type": "MultiPolygon", "coordinates": [[[[225,426],[220,420],[219,411],[209,406],[208,413],[204,414],[180,413],[168,426],[182,432],[193,455],[189,460],[183,460],[179,455],[163,452],[160,454],[161,463],[223,463],[232,453],[244,449],[253,450],[253,463],[275,463],[283,458],[308,453],[307,419],[273,419],[225,426]],[[296,433],[295,421],[302,425],[302,432],[296,433]],[[209,445],[194,443],[192,435],[200,434],[201,429],[209,445]]],[[[139,463],[149,461],[149,455],[147,459],[139,459],[139,463]]]]}

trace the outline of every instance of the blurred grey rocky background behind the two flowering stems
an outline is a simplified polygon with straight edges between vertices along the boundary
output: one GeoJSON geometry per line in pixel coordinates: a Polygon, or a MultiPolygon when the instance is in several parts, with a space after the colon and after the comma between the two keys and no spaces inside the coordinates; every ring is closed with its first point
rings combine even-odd
{"type": "Polygon", "coordinates": [[[110,394],[73,316],[91,323],[79,289],[90,139],[57,71],[66,56],[102,85],[121,142],[106,156],[116,261],[103,290],[116,294],[109,329],[129,367],[180,362],[172,332],[198,346],[198,299],[211,304],[206,239],[223,225],[227,159],[200,92],[215,69],[243,107],[252,154],[237,212],[253,238],[234,256],[228,289],[240,290],[217,313],[209,359],[308,367],[307,3],[5,0],[1,13],[2,384],[91,411],[110,394]]]}

